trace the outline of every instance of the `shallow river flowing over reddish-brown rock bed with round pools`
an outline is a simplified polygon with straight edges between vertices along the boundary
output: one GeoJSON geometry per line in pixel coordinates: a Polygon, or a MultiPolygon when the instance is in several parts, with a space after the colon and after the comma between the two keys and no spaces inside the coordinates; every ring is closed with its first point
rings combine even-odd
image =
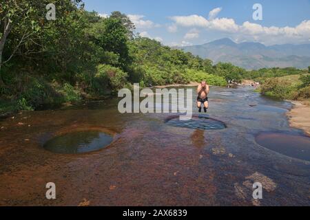
{"type": "Polygon", "coordinates": [[[212,87],[207,115],[187,123],[173,113],[121,114],[117,104],[2,119],[0,206],[310,204],[309,157],[300,156],[309,153],[309,137],[289,127],[289,102],[212,87]],[[48,182],[56,184],[55,200],[45,198],[48,182]],[[263,186],[259,201],[254,182],[263,186]]]}

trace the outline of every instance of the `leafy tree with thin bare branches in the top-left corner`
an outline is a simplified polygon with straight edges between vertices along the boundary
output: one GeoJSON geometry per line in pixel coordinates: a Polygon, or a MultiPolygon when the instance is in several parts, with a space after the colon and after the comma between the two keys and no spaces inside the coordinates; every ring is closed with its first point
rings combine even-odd
{"type": "MultiPolygon", "coordinates": [[[[42,50],[39,33],[47,23],[45,16],[48,0],[5,0],[0,3],[0,85],[3,85],[1,67],[14,56],[27,56],[42,50]],[[14,37],[10,38],[10,35],[14,37]],[[6,46],[9,44],[9,50],[6,46]],[[30,45],[37,45],[30,47],[30,45]],[[31,49],[30,49],[31,48],[31,49]],[[4,54],[8,51],[7,54],[4,54]]],[[[61,15],[81,0],[54,0],[56,13],[61,15]]]]}

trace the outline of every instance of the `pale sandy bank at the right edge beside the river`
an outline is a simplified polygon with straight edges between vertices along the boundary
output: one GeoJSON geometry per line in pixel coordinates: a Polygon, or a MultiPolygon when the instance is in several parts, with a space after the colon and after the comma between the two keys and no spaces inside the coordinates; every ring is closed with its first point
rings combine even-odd
{"type": "Polygon", "coordinates": [[[310,135],[310,105],[309,102],[290,101],[293,109],[287,113],[289,124],[297,129],[302,129],[310,135]]]}

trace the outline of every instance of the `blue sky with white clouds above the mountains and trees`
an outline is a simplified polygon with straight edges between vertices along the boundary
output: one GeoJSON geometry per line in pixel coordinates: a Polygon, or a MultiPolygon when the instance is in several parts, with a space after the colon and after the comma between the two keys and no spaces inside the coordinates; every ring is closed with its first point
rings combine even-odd
{"type": "Polygon", "coordinates": [[[229,37],[265,45],[310,43],[310,0],[84,0],[103,16],[127,14],[141,36],[165,45],[199,45],[229,37]],[[253,5],[262,5],[254,21],[253,5]],[[211,14],[210,14],[211,12],[211,14]]]}

